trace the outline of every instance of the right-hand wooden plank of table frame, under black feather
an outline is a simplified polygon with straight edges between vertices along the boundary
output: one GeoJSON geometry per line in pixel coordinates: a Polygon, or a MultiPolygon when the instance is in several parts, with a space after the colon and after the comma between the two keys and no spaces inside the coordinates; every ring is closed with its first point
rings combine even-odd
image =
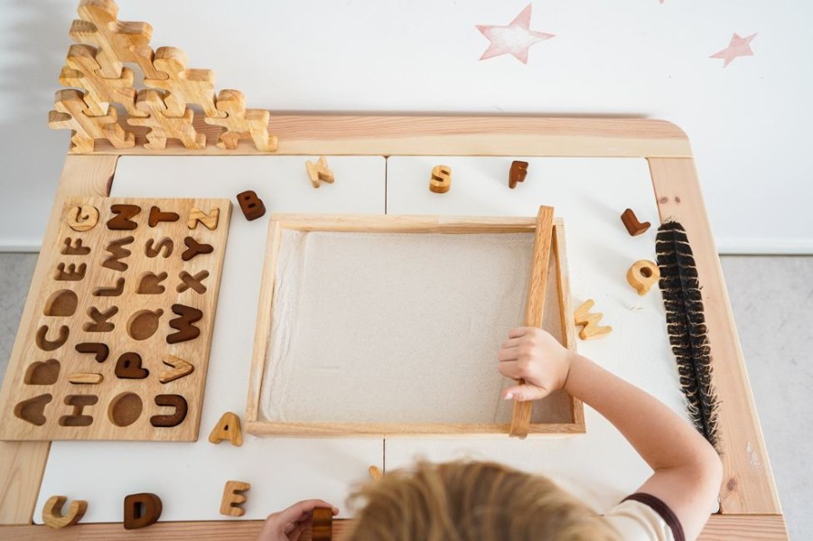
{"type": "Polygon", "coordinates": [[[660,220],[676,219],[686,229],[702,286],[715,370],[713,381],[722,405],[718,414],[724,466],[720,507],[726,514],[780,514],[779,497],[695,163],[687,159],[650,159],[649,170],[660,220]]]}

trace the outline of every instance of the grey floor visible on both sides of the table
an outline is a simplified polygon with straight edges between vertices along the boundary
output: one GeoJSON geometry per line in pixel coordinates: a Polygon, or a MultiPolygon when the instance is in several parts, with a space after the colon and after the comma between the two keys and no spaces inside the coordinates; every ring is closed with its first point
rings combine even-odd
{"type": "MultiPolygon", "coordinates": [[[[0,254],[0,380],[35,254],[0,254]]],[[[813,257],[723,257],[728,292],[792,539],[813,537],[813,257]]]]}

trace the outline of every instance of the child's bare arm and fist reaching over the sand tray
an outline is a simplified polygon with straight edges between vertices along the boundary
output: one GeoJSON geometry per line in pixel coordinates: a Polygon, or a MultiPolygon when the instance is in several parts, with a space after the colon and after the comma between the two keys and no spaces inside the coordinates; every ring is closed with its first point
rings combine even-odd
{"type": "Polygon", "coordinates": [[[610,421],[655,471],[638,491],[663,500],[687,539],[699,535],[715,508],[723,467],[692,425],[640,388],[565,350],[541,329],[510,331],[498,359],[502,375],[526,380],[506,389],[505,398],[537,400],[565,388],[610,421]]]}

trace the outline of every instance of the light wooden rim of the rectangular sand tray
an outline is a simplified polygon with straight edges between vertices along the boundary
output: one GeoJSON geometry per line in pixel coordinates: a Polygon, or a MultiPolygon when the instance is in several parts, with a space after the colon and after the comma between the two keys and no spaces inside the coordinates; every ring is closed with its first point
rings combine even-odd
{"type": "MultiPolygon", "coordinates": [[[[276,298],[275,285],[279,250],[283,244],[285,231],[298,232],[341,232],[341,233],[399,233],[399,234],[489,234],[489,233],[533,233],[537,229],[537,220],[533,218],[463,218],[444,216],[321,216],[308,214],[276,214],[268,223],[266,262],[263,272],[263,283],[260,289],[259,307],[257,310],[257,331],[251,373],[248,383],[248,405],[246,408],[246,430],[257,435],[330,435],[330,436],[381,436],[406,437],[420,436],[472,436],[472,435],[505,435],[509,424],[465,424],[465,423],[366,423],[366,422],[286,422],[268,419],[263,414],[264,398],[267,396],[268,371],[274,360],[271,355],[273,312],[276,298]]],[[[551,331],[562,340],[569,350],[575,350],[575,325],[573,309],[570,302],[570,285],[567,275],[567,258],[565,254],[565,226],[561,219],[554,224],[554,238],[547,288],[547,304],[553,304],[556,310],[546,312],[559,316],[552,325],[551,331]],[[553,288],[556,288],[556,291],[553,288]]],[[[464,278],[461,278],[464,280],[464,278]]],[[[525,289],[523,298],[525,297],[525,289]]],[[[300,300],[300,303],[303,301],[300,300]]],[[[320,326],[321,329],[324,327],[320,326]]],[[[328,329],[324,329],[328,331],[328,329]]],[[[285,334],[285,332],[284,332],[285,334]]],[[[452,332],[453,334],[453,332],[452,332]]],[[[285,350],[291,347],[290,344],[285,350]]],[[[354,364],[363,360],[356,359],[354,364]]],[[[416,376],[417,377],[417,376],[416,376]]],[[[471,386],[464,386],[471,387],[471,386]]],[[[428,390],[428,389],[427,389],[428,390]]],[[[470,388],[468,392],[472,392],[470,388]]],[[[498,395],[495,392],[495,396],[498,395]]],[[[295,396],[295,395],[294,395],[295,396]]],[[[446,396],[451,399],[451,396],[446,396]]],[[[559,400],[564,396],[552,396],[559,400]]],[[[363,400],[363,398],[359,398],[363,400]]],[[[565,398],[570,411],[569,422],[537,421],[529,426],[528,435],[545,434],[584,434],[584,406],[573,396],[565,398]]],[[[382,406],[376,406],[381,409],[382,406]]],[[[538,406],[538,407],[541,407],[538,406]]],[[[535,417],[536,418],[536,417],[535,417]]]]}

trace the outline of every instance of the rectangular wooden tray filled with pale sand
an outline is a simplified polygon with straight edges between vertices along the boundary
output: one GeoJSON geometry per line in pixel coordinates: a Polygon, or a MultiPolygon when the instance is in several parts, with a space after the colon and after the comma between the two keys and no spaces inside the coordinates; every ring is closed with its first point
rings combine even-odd
{"type": "MultiPolygon", "coordinates": [[[[543,209],[552,219],[552,209],[543,209]]],[[[564,225],[556,220],[551,229],[549,225],[539,228],[538,223],[537,219],[272,216],[249,377],[248,432],[388,437],[507,434],[509,416],[513,424],[520,408],[500,400],[500,385],[508,380],[497,374],[496,351],[489,346],[499,343],[492,328],[502,323],[495,313],[500,311],[500,303],[507,303],[508,292],[519,301],[509,310],[515,317],[509,318],[508,328],[522,324],[526,304],[532,314],[526,322],[542,326],[545,289],[551,289],[548,303],[554,309],[547,311],[546,326],[565,347],[575,350],[564,225]],[[528,238],[520,241],[518,233],[520,238],[528,238]],[[540,237],[548,239],[548,248],[553,244],[553,256],[549,262],[535,260],[531,268],[530,252],[535,245],[545,244],[538,242],[540,237]],[[457,254],[457,239],[482,246],[462,248],[461,259],[471,257],[472,252],[488,251],[486,258],[505,259],[500,261],[502,266],[530,270],[528,285],[494,283],[489,271],[482,270],[488,266],[483,259],[476,263],[463,263],[456,256],[444,259],[437,250],[457,254]],[[488,244],[488,239],[494,244],[488,244]],[[519,252],[517,247],[509,247],[509,239],[514,245],[524,242],[526,259],[510,258],[519,252]],[[433,242],[444,244],[434,247],[433,242]],[[392,254],[384,254],[391,245],[397,245],[391,248],[392,254]],[[506,251],[500,252],[503,245],[506,251]],[[314,255],[336,246],[343,250],[338,259],[358,264],[340,269],[337,258],[314,255]],[[323,265],[324,261],[336,262],[336,266],[323,265]],[[444,273],[445,267],[466,264],[468,275],[466,269],[458,272],[457,268],[444,273]],[[410,266],[414,268],[399,272],[410,266]],[[472,278],[472,267],[487,274],[482,284],[472,278]],[[300,275],[302,284],[292,288],[290,284],[300,275]],[[382,276],[380,281],[378,276],[382,276]],[[407,305],[397,300],[394,290],[399,288],[407,305]],[[466,302],[466,297],[479,301],[489,294],[496,297],[496,303],[484,304],[480,310],[466,302]],[[438,303],[441,296],[444,302],[438,303]],[[312,308],[309,297],[314,299],[312,308]],[[378,297],[386,299],[386,306],[375,305],[378,297]],[[358,311],[353,310],[353,303],[360,303],[358,311]],[[433,312],[443,311],[447,305],[453,306],[451,313],[459,311],[460,317],[433,312]],[[410,319],[401,312],[417,315],[410,319]],[[461,318],[467,322],[459,331],[455,319],[461,318]],[[436,347],[433,340],[437,340],[436,347]],[[419,342],[423,344],[416,346],[419,342]],[[402,350],[407,352],[401,354],[402,350]],[[479,362],[468,368],[471,359],[479,362]],[[394,388],[397,393],[387,392],[394,388]],[[455,403],[455,396],[463,404],[455,403]],[[502,410],[502,421],[499,413],[492,413],[495,407],[502,410]]],[[[505,334],[508,328],[496,334],[505,334]]],[[[558,393],[539,401],[536,409],[538,415],[532,420],[528,408],[525,422],[529,425],[519,428],[523,437],[584,433],[579,400],[558,393]]]]}

